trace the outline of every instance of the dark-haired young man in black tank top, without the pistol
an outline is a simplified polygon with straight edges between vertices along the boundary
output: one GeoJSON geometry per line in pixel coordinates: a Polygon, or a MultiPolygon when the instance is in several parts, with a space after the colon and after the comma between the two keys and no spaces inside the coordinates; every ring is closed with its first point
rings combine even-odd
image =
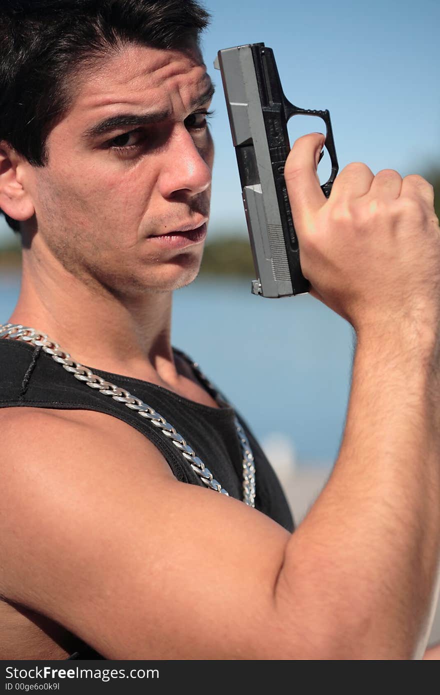
{"type": "Polygon", "coordinates": [[[323,136],[288,158],[304,274],[357,332],[341,451],[292,534],[252,434],[170,345],[209,217],[206,21],[190,0],[3,10],[0,206],[23,275],[0,340],[1,656],[421,657],[440,539],[432,187],[357,163],[327,201],[323,136]]]}

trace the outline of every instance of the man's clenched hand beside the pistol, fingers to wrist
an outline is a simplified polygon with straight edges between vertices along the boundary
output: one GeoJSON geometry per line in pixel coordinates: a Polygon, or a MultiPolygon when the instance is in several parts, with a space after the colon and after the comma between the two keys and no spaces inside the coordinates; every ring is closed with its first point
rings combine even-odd
{"type": "Polygon", "coordinates": [[[359,330],[405,320],[438,322],[440,230],[434,190],[418,175],[374,176],[352,163],[327,200],[316,161],[324,136],[295,142],[284,176],[311,294],[359,330]]]}

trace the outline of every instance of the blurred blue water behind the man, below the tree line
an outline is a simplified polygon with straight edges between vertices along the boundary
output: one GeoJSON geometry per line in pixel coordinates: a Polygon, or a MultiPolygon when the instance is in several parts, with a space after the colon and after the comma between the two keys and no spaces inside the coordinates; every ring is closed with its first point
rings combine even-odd
{"type": "MultiPolygon", "coordinates": [[[[0,278],[0,322],[19,276],[0,278]]],[[[301,463],[334,460],[345,418],[352,329],[309,295],[268,300],[250,282],[199,278],[174,295],[173,344],[199,362],[262,441],[282,434],[301,463]]],[[[68,345],[63,345],[66,350],[68,345]]]]}

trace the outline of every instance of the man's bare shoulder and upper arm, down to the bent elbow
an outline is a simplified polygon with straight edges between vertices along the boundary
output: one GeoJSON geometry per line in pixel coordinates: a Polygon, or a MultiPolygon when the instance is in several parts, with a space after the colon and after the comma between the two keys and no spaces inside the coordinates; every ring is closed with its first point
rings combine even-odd
{"type": "Polygon", "coordinates": [[[8,598],[108,658],[279,655],[284,529],[178,482],[154,445],[117,418],[6,409],[1,428],[8,598]]]}

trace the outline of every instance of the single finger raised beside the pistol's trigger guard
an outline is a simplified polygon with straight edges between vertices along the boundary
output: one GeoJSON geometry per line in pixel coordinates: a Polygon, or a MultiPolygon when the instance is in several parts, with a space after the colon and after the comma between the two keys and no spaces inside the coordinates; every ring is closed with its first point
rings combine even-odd
{"type": "Polygon", "coordinates": [[[284,179],[288,199],[292,208],[295,229],[300,233],[310,216],[316,213],[327,201],[321,190],[316,167],[323,149],[323,133],[309,133],[295,141],[286,159],[284,179]]]}

